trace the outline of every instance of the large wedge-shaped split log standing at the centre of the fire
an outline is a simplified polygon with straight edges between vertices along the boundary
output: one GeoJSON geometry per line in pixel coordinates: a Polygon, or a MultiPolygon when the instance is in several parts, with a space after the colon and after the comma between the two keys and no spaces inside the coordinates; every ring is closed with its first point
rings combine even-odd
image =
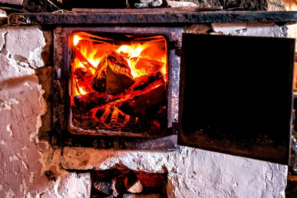
{"type": "Polygon", "coordinates": [[[135,81],[127,59],[114,50],[106,53],[95,72],[92,87],[108,95],[119,94],[129,89],[135,81]]]}

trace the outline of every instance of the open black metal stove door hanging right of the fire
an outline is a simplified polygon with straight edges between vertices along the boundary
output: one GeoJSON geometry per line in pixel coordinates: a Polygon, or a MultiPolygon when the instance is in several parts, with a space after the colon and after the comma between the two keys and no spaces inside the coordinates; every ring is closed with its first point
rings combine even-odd
{"type": "Polygon", "coordinates": [[[295,39],[183,34],[178,144],[288,164],[295,39]]]}

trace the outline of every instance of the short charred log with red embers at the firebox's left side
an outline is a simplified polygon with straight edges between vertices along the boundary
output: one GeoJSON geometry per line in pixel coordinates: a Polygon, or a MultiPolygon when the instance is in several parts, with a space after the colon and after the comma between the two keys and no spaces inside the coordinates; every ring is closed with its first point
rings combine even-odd
{"type": "Polygon", "coordinates": [[[73,100],[76,108],[88,111],[104,104],[106,99],[106,95],[102,95],[98,92],[91,92],[82,96],[76,96],[73,100]]]}

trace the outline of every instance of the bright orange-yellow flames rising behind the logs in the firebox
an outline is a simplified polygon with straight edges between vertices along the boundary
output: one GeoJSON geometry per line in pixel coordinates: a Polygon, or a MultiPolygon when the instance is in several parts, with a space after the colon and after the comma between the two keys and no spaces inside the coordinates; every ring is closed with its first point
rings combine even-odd
{"type": "MultiPolygon", "coordinates": [[[[86,60],[92,65],[93,68],[86,68],[82,60],[77,56],[74,58],[72,66],[74,72],[78,68],[87,69],[93,75],[95,74],[96,68],[98,67],[102,57],[108,50],[115,50],[117,53],[123,54],[128,62],[128,66],[131,69],[131,75],[133,79],[137,79],[141,76],[148,75],[146,70],[137,65],[141,65],[141,59],[154,60],[162,63],[160,72],[164,76],[166,82],[167,78],[167,52],[165,50],[165,39],[162,39],[162,44],[148,42],[148,43],[135,43],[131,45],[110,45],[110,44],[95,44],[96,40],[86,38],[84,33],[77,33],[73,36],[73,46],[80,51],[86,60]]],[[[159,41],[159,40],[158,40],[159,41]]],[[[88,93],[88,91],[79,85],[76,81],[76,86],[73,86],[73,94],[75,96],[81,96],[88,93]]]]}

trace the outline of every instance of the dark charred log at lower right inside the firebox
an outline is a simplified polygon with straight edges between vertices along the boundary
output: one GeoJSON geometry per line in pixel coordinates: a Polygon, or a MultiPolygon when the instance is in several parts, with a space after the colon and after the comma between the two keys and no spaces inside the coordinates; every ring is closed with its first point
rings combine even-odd
{"type": "Polygon", "coordinates": [[[123,102],[120,109],[129,115],[146,118],[154,114],[160,105],[165,105],[165,85],[157,85],[146,94],[133,97],[132,99],[123,102]]]}

